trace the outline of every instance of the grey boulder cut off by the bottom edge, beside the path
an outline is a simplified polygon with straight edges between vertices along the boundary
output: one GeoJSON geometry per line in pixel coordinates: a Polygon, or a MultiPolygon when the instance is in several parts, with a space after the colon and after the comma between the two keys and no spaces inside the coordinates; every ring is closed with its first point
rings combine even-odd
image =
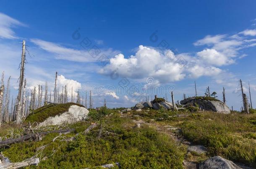
{"type": "Polygon", "coordinates": [[[199,169],[242,169],[232,161],[214,156],[199,164],[199,169]]]}

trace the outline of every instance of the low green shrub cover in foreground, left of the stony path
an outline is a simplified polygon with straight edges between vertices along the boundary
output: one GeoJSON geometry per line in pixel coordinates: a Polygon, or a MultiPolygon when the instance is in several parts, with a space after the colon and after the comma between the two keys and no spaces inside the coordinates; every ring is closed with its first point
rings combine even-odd
{"type": "MultiPolygon", "coordinates": [[[[100,119],[102,121],[102,138],[97,139],[99,126],[86,136],[79,134],[74,141],[60,141],[53,138],[58,134],[44,136],[42,141],[25,141],[0,149],[12,162],[22,161],[35,154],[45,161],[38,166],[27,168],[63,168],[81,169],[102,164],[119,162],[121,168],[132,169],[181,169],[185,156],[185,147],[178,146],[170,136],[159,134],[148,126],[133,128],[135,124],[130,118],[121,118],[118,113],[111,113],[100,119]],[[111,134],[107,134],[107,132],[111,134]],[[40,146],[47,145],[44,150],[36,151],[40,146]],[[17,154],[19,154],[17,156],[17,154]]],[[[64,139],[84,131],[91,120],[69,126],[75,128],[74,133],[65,135],[64,139]]]]}

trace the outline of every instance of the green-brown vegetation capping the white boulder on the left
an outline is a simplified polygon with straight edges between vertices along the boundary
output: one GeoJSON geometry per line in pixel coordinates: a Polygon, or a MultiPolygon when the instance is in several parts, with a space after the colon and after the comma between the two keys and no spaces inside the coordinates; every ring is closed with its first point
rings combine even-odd
{"type": "Polygon", "coordinates": [[[29,116],[25,119],[25,123],[29,121],[30,123],[42,122],[48,117],[54,117],[68,111],[68,108],[72,105],[84,107],[83,105],[77,103],[62,103],[57,105],[49,104],[32,111],[31,114],[29,114],[29,116]]]}

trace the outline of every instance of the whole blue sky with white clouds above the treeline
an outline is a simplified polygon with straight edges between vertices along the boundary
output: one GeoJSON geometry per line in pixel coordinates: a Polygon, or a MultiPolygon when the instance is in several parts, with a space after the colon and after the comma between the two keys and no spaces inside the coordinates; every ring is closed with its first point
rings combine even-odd
{"type": "Polygon", "coordinates": [[[15,95],[21,42],[26,40],[29,88],[47,80],[52,90],[58,71],[60,87],[68,83],[86,91],[86,86],[95,86],[94,106],[102,106],[106,98],[108,106],[117,107],[133,106],[138,96],[151,98],[154,93],[150,93],[149,86],[164,86],[165,90],[174,86],[175,100],[181,100],[183,93],[195,95],[196,81],[200,95],[210,86],[222,99],[225,87],[228,106],[239,110],[242,104],[237,87],[241,78],[247,94],[248,82],[251,84],[255,107],[255,7],[255,1],[236,0],[3,0],[0,71],[5,71],[5,79],[12,77],[15,95]],[[72,38],[76,30],[80,34],[78,40],[72,38]],[[156,36],[157,40],[152,40],[156,36]],[[88,48],[80,44],[84,38],[91,42],[88,48]],[[167,48],[159,48],[163,42],[167,48]],[[99,56],[93,58],[90,54],[94,45],[100,50],[99,55],[110,58],[103,67],[99,56]],[[117,79],[111,78],[113,72],[118,73],[117,79]],[[129,87],[141,84],[148,90],[118,93],[123,78],[128,79],[129,87]],[[153,83],[147,83],[151,78],[153,83]]]}

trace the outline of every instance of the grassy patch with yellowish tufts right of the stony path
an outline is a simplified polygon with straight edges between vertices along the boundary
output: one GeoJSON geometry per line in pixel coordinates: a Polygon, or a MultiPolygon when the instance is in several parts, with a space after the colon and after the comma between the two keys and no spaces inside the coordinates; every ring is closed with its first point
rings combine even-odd
{"type": "Polygon", "coordinates": [[[256,164],[256,114],[201,112],[169,122],[180,126],[186,139],[206,146],[210,156],[256,164]]]}

